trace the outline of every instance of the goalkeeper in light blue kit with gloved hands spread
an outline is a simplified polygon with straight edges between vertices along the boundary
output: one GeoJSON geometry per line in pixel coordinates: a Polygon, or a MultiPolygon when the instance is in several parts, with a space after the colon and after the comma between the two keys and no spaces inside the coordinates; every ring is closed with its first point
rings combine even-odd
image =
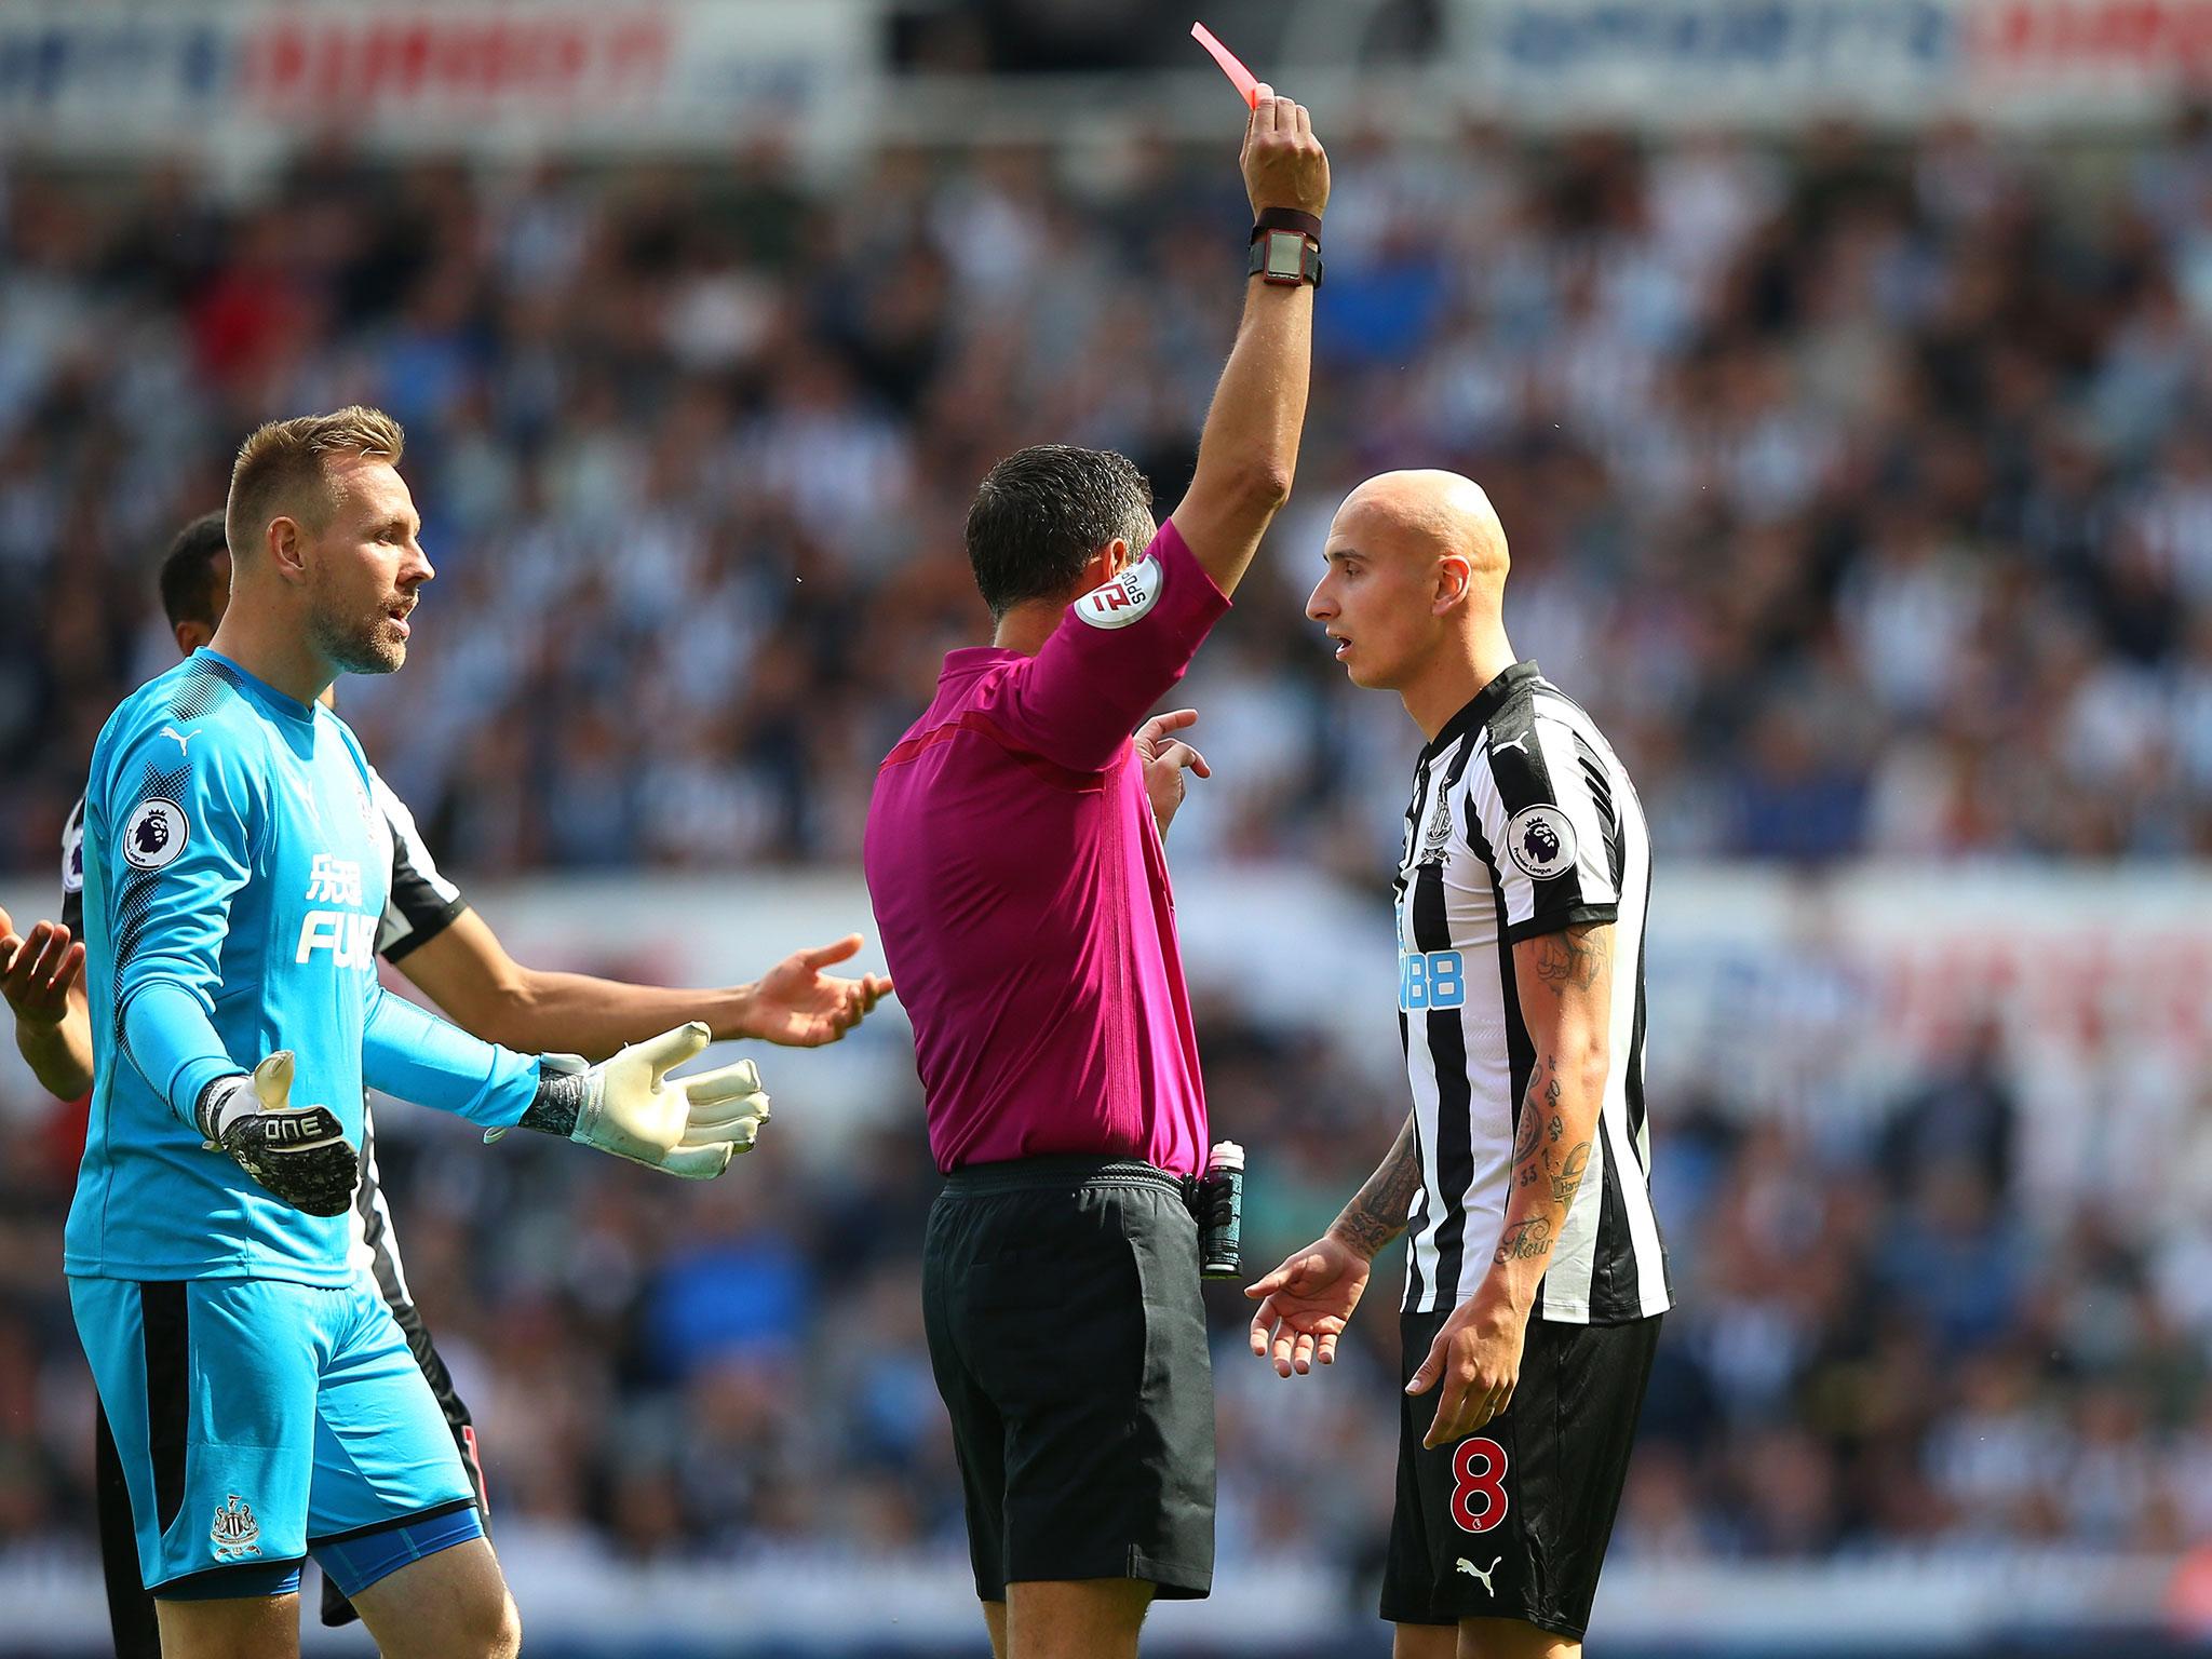
{"type": "Polygon", "coordinates": [[[316,697],[407,655],[431,566],[398,456],[372,409],[248,438],[234,602],[93,750],[95,1071],[64,1265],[168,1659],[296,1655],[310,1551],[387,1659],[520,1646],[438,1402],[347,1261],[363,1084],[686,1177],[768,1119],[750,1062],[666,1077],[703,1024],[586,1066],[378,987],[389,860],[316,697]]]}

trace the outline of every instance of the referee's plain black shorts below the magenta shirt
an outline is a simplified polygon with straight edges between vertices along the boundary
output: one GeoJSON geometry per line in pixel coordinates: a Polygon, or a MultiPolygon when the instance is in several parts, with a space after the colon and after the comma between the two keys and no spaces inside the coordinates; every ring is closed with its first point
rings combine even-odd
{"type": "Polygon", "coordinates": [[[1199,1237],[1150,1164],[953,1172],[922,1318],[953,1420],[975,1595],[1035,1579],[1214,1579],[1214,1374],[1199,1237]]]}

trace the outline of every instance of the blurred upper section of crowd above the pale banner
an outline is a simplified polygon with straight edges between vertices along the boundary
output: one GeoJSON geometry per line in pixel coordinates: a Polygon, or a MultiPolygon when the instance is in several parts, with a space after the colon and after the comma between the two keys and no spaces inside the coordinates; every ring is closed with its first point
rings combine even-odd
{"type": "MultiPolygon", "coordinates": [[[[1506,619],[1663,856],[2212,847],[2212,137],[1825,128],[1542,148],[1336,133],[1298,495],[1190,681],[1186,860],[1367,872],[1402,723],[1301,619],[1360,476],[1460,467],[1506,619]],[[1376,741],[1385,737],[1385,741],[1376,741]]],[[[1042,438],[1161,511],[1241,303],[1225,155],[1141,139],[723,166],[369,168],[226,195],[18,164],[0,199],[0,867],[42,867],[146,566],[259,418],[409,429],[440,575],[345,688],[447,858],[847,863],[987,622],[969,491],[1042,438]]]]}

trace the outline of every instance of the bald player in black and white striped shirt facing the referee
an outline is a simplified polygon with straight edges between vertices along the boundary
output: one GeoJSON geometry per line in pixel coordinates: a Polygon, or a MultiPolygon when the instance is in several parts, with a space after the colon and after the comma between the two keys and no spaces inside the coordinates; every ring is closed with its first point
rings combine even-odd
{"type": "Polygon", "coordinates": [[[1422,737],[1398,863],[1413,1110],[1329,1230],[1245,1294],[1281,1376],[1332,1363],[1411,1230],[1398,1659],[1582,1652],[1668,1307],[1644,1121],[1650,838],[1613,745],[1502,604],[1506,538],[1455,473],[1385,473],[1329,524],[1307,615],[1422,737]]]}

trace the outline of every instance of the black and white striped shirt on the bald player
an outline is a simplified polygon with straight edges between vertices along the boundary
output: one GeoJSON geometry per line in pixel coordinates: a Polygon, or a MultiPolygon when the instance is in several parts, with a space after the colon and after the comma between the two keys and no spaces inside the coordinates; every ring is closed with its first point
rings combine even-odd
{"type": "Polygon", "coordinates": [[[1628,772],[1590,717],[1522,661],[1420,752],[1405,825],[1398,1029],[1422,1164],[1405,1310],[1449,1312],[1473,1296],[1504,1230],[1513,1126],[1535,1066],[1513,945],[1613,922],[1610,1071],[1597,1144],[1535,1312],[1571,1325],[1666,1312],[1644,1117],[1652,856],[1628,772]]]}

